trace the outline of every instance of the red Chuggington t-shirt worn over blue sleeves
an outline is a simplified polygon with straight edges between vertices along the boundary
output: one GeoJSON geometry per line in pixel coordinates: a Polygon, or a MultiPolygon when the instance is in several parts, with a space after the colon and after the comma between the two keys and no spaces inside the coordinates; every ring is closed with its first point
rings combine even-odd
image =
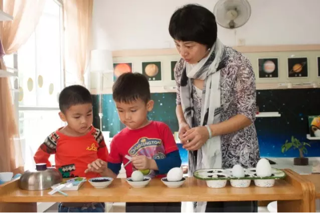
{"type": "MultiPolygon", "coordinates": [[[[172,151],[178,150],[176,140],[169,126],[163,122],[150,121],[150,123],[139,129],[124,128],[116,134],[110,145],[110,153],[107,161],[111,163],[128,162],[125,155],[145,155],[153,159],[163,159],[172,151]]],[[[127,177],[130,177],[135,168],[132,163],[125,167],[127,177]]],[[[144,171],[146,176],[156,175],[155,171],[144,171]]]]}

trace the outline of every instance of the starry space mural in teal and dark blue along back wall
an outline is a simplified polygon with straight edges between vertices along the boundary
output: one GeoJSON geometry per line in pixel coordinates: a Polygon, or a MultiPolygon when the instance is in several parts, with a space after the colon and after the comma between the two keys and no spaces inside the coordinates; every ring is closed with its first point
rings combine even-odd
{"type": "MultiPolygon", "coordinates": [[[[280,117],[257,117],[255,126],[257,129],[260,154],[262,157],[296,157],[297,150],[289,150],[281,153],[281,145],[286,139],[295,136],[300,141],[309,142],[306,156],[319,156],[320,141],[308,140],[309,115],[320,114],[320,88],[308,89],[266,89],[257,90],[257,105],[260,112],[278,111],[280,117]]],[[[154,107],[148,113],[151,120],[159,120],[167,123],[172,132],[178,131],[178,120],[176,118],[176,93],[152,93],[154,107]]],[[[93,95],[95,127],[99,127],[98,103],[99,96],[93,95]]],[[[110,131],[110,136],[119,132],[123,125],[120,125],[118,114],[112,100],[112,94],[103,94],[103,120],[102,130],[110,131]]],[[[319,126],[320,127],[320,126],[319,126]]],[[[178,145],[183,163],[188,161],[188,152],[178,145]]]]}

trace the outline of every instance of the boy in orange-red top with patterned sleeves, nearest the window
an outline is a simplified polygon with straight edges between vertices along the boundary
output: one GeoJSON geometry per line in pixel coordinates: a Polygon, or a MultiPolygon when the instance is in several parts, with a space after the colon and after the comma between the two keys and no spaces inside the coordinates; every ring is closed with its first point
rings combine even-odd
{"type": "MultiPolygon", "coordinates": [[[[85,170],[96,159],[107,160],[108,149],[102,132],[92,126],[92,97],[81,85],[64,88],[59,95],[59,116],[67,125],[51,133],[38,148],[36,163],[47,163],[55,154],[55,166],[64,178],[98,177],[97,172],[85,170]]],[[[104,203],[59,203],[59,212],[104,212],[104,203]]]]}

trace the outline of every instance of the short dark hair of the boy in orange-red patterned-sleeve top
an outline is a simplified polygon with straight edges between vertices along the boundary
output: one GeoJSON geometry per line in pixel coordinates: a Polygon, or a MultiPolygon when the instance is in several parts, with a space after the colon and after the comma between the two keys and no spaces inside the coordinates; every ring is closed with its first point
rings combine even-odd
{"type": "Polygon", "coordinates": [[[90,91],[82,85],[71,85],[62,89],[59,95],[59,108],[63,113],[73,105],[92,103],[90,91]]]}

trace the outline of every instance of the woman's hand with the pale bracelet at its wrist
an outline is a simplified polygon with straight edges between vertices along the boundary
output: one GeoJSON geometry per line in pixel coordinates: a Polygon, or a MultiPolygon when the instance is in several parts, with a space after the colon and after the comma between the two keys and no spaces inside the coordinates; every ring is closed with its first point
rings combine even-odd
{"type": "Polygon", "coordinates": [[[183,147],[187,150],[198,150],[209,139],[209,132],[206,126],[197,126],[189,129],[183,134],[181,140],[184,144],[183,147]],[[188,142],[189,140],[189,142],[188,142]]]}

